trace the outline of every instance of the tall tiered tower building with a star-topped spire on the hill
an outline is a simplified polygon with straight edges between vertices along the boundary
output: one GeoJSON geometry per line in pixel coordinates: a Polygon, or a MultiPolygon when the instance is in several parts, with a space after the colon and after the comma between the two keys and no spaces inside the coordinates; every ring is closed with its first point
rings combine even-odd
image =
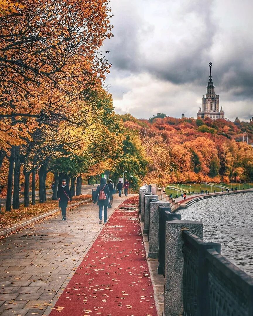
{"type": "Polygon", "coordinates": [[[205,119],[209,117],[210,119],[224,119],[224,111],[222,110],[222,106],[219,111],[219,94],[215,94],[214,92],[214,84],[212,82],[212,72],[211,67],[212,63],[209,63],[210,67],[210,75],[209,82],[207,84],[207,93],[202,97],[202,111],[201,108],[197,113],[198,119],[205,119]]]}

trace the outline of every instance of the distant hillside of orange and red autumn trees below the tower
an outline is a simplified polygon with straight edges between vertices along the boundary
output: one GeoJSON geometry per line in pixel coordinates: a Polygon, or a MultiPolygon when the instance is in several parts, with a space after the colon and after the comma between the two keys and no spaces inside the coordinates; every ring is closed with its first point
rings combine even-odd
{"type": "Polygon", "coordinates": [[[166,115],[138,120],[128,114],[121,119],[139,135],[148,160],[147,183],[253,181],[253,148],[248,145],[253,122],[166,115]]]}

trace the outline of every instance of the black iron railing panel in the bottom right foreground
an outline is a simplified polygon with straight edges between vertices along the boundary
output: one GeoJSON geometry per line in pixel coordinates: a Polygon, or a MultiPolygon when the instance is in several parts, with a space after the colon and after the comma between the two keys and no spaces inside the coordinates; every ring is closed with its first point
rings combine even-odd
{"type": "Polygon", "coordinates": [[[184,240],[184,316],[252,316],[253,278],[189,231],[184,240]]]}

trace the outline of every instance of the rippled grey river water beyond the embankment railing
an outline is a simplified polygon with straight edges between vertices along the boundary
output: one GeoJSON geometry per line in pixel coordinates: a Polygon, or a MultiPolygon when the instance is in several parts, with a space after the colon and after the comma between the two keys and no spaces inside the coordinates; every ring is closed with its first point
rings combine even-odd
{"type": "Polygon", "coordinates": [[[204,241],[220,243],[221,254],[253,277],[252,192],[211,197],[177,213],[202,222],[204,241]]]}

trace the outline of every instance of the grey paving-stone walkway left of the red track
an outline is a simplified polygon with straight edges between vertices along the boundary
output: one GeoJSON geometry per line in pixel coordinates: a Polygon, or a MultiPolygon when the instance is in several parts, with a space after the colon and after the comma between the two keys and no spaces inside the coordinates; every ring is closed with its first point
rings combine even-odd
{"type": "MultiPolygon", "coordinates": [[[[125,199],[114,197],[108,216],[125,199]]],[[[103,227],[90,202],[67,210],[66,217],[61,221],[57,213],[0,239],[1,316],[51,312],[103,227]]]]}

